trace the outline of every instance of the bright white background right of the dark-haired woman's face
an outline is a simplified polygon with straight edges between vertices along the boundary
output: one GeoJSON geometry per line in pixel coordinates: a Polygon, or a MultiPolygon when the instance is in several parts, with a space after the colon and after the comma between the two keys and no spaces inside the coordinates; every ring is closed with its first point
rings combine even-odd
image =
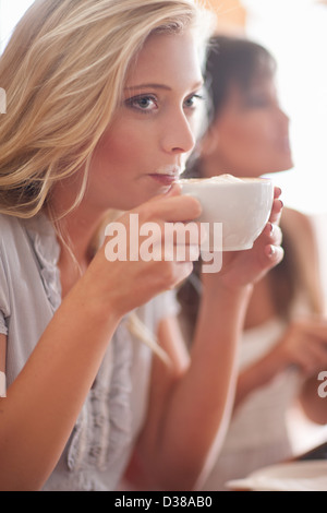
{"type": "Polygon", "coordinates": [[[242,0],[247,35],[278,61],[283,108],[291,118],[295,167],[278,177],[288,204],[327,213],[327,5],[314,0],[242,0]]]}

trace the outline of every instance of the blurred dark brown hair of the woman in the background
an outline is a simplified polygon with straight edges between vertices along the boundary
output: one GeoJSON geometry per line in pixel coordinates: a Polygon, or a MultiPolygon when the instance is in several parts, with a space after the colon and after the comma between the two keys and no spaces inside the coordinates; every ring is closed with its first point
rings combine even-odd
{"type": "MultiPolygon", "coordinates": [[[[246,98],[251,87],[263,80],[274,80],[276,61],[274,57],[261,45],[243,39],[226,36],[216,36],[211,40],[206,63],[206,86],[208,91],[208,123],[219,116],[220,109],[228,99],[232,86],[237,86],[246,98]]],[[[201,176],[201,159],[192,162],[185,176],[201,176]]],[[[282,220],[281,220],[282,227],[282,220]]],[[[271,297],[276,313],[289,319],[293,299],[301,283],[302,273],[299,269],[296,251],[293,248],[292,237],[283,230],[284,258],[279,265],[268,274],[271,297]]],[[[199,265],[194,266],[194,274],[198,275],[199,265]]],[[[194,275],[193,275],[194,278],[194,275]]],[[[183,306],[191,326],[195,324],[198,308],[198,289],[194,287],[194,279],[189,279],[179,290],[179,300],[183,306]]]]}

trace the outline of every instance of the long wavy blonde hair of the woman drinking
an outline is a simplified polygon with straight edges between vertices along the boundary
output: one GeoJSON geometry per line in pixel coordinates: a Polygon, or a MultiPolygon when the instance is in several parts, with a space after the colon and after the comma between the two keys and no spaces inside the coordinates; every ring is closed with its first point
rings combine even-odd
{"type": "Polygon", "coordinates": [[[152,33],[199,27],[204,13],[196,0],[36,0],[0,59],[0,213],[33,217],[84,169],[76,205],[132,59],[152,33]]]}

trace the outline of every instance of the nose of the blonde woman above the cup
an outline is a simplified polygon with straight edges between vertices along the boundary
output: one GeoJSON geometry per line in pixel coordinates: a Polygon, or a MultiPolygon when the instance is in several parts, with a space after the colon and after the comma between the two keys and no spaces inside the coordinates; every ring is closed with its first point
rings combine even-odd
{"type": "Polygon", "coordinates": [[[161,146],[165,152],[173,154],[189,153],[195,144],[194,128],[183,110],[167,115],[161,124],[161,146]]]}

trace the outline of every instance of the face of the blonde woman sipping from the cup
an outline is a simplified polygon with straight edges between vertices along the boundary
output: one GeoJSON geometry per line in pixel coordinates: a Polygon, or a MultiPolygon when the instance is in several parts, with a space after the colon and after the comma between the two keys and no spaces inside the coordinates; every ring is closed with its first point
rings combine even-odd
{"type": "Polygon", "coordinates": [[[194,145],[202,84],[191,33],[147,39],[93,157],[86,198],[95,207],[130,210],[170,189],[194,145]]]}

